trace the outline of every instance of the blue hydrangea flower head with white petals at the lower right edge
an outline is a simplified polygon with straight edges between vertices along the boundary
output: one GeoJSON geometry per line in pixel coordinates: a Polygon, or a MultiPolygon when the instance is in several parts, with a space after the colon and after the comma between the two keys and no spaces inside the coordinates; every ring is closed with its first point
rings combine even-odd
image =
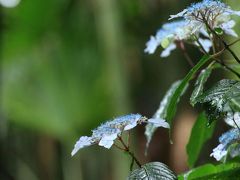
{"type": "MultiPolygon", "coordinates": [[[[226,155],[228,154],[228,148],[232,144],[238,142],[239,140],[240,140],[239,129],[235,128],[227,131],[219,138],[220,144],[213,149],[213,152],[210,154],[210,156],[214,157],[217,161],[220,161],[221,159],[226,157],[226,155]]],[[[236,156],[237,154],[236,150],[237,149],[232,150],[232,152],[234,152],[234,156],[236,156]]],[[[239,147],[238,147],[238,150],[240,150],[239,147]]],[[[238,155],[239,154],[240,154],[240,151],[238,151],[238,155]]],[[[232,156],[233,154],[230,154],[230,155],[232,156]]]]}

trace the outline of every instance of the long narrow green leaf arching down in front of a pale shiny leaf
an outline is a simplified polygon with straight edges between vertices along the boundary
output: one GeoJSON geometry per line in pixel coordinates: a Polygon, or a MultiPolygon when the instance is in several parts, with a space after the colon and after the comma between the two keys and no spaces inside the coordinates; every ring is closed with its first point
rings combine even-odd
{"type": "Polygon", "coordinates": [[[177,103],[179,101],[179,97],[182,95],[182,93],[185,91],[185,89],[188,86],[188,82],[191,80],[193,75],[204,65],[208,62],[208,60],[211,58],[209,55],[204,55],[200,61],[189,71],[189,73],[185,76],[185,78],[182,80],[182,82],[177,87],[176,91],[174,92],[170,102],[169,102],[169,108],[167,109],[167,116],[166,120],[170,124],[170,127],[172,126],[172,120],[176,112],[177,103]]]}

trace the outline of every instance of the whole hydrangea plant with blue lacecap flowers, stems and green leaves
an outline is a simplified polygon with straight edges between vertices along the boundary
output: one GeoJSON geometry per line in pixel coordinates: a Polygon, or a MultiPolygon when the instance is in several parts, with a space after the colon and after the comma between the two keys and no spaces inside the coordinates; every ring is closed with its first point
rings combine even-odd
{"type": "Polygon", "coordinates": [[[233,159],[240,156],[240,73],[222,58],[223,53],[228,51],[235,60],[235,66],[240,64],[240,59],[231,48],[239,39],[227,43],[223,38],[224,34],[237,37],[233,30],[235,21],[232,20],[232,15],[240,16],[240,11],[232,10],[219,0],[203,0],[192,4],[176,15],[171,15],[170,20],[175,18],[178,18],[178,20],[164,24],[156,36],[151,36],[146,44],[145,52],[153,54],[158,46],[161,46],[164,49],[161,57],[167,57],[172,50],[178,48],[192,66],[189,73],[170,87],[152,118],[132,114],[107,121],[93,130],[91,137],[81,137],[76,143],[72,155],[79,149],[92,144],[98,144],[105,148],[114,145],[131,156],[131,170],[134,162],[139,166],[139,169],[130,173],[128,179],[177,179],[177,176],[162,163],[141,164],[130,149],[129,130],[138,124],[146,123],[147,148],[153,133],[158,127],[169,128],[171,137],[171,127],[178,102],[187,90],[191,80],[196,78],[190,104],[192,106],[202,105],[204,112],[198,116],[187,145],[189,166],[191,168],[195,166],[203,144],[211,138],[214,132],[214,121],[224,119],[232,129],[219,138],[220,144],[210,154],[217,161],[221,161],[222,164],[217,166],[206,164],[191,169],[189,172],[179,175],[178,178],[239,178],[240,162],[239,159],[236,161],[233,161],[233,159]],[[202,53],[203,56],[197,64],[193,63],[188,54],[186,44],[198,48],[202,53]],[[205,90],[205,83],[216,68],[228,70],[236,76],[236,79],[223,79],[216,82],[210,89],[205,90]],[[124,132],[127,132],[126,141],[123,138],[124,132]]]}

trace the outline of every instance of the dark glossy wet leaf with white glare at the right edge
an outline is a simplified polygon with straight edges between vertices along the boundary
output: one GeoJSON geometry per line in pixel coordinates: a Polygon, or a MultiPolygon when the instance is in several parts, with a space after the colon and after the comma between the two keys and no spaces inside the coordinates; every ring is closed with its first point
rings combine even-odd
{"type": "Polygon", "coordinates": [[[240,81],[223,79],[199,96],[196,101],[205,106],[209,123],[238,111],[240,107],[240,81]]]}

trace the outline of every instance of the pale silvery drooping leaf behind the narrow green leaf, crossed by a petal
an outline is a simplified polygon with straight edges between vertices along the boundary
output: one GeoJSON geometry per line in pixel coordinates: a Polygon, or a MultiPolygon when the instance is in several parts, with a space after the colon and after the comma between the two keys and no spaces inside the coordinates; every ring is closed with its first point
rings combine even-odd
{"type": "MultiPolygon", "coordinates": [[[[167,109],[169,107],[169,101],[172,98],[173,93],[176,91],[176,89],[177,89],[177,87],[179,86],[180,83],[181,83],[181,81],[176,81],[169,88],[169,90],[165,94],[164,98],[162,99],[158,110],[156,111],[156,113],[153,116],[154,119],[159,119],[159,118],[160,119],[165,119],[166,118],[167,109]]],[[[152,139],[152,136],[153,136],[154,132],[156,131],[156,129],[157,129],[157,127],[154,124],[147,124],[146,127],[145,127],[145,136],[147,138],[145,152],[147,152],[147,149],[149,147],[149,143],[150,143],[150,141],[152,139]]]]}

